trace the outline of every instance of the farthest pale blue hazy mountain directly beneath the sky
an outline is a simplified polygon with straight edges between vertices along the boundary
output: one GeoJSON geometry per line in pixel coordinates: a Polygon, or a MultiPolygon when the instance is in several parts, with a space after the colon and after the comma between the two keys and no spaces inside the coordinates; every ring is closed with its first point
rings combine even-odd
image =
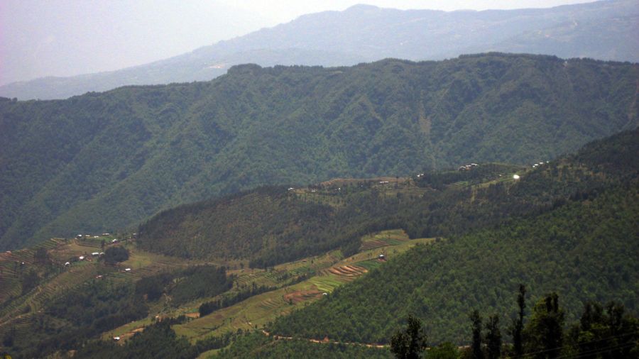
{"type": "Polygon", "coordinates": [[[386,57],[442,60],[489,51],[638,62],[638,31],[636,0],[508,11],[400,11],[358,5],[300,16],[148,65],[6,84],[0,96],[63,99],[130,84],[208,80],[242,63],[343,66],[386,57]]]}

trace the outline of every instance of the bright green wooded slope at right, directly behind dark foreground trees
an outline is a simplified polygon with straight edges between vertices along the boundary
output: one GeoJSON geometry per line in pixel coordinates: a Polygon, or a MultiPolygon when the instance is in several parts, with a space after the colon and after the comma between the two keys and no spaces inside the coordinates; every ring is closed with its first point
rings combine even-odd
{"type": "Polygon", "coordinates": [[[557,184],[568,188],[589,178],[616,177],[611,184],[555,201],[555,208],[542,214],[418,246],[329,298],[275,321],[269,330],[301,338],[388,343],[401,320],[413,313],[423,319],[434,343],[466,343],[469,312],[514,316],[519,283],[528,286],[532,302],[558,292],[570,321],[586,301],[615,300],[636,312],[638,139],[635,130],[591,143],[557,166],[521,180],[552,191],[557,187],[534,177],[572,167],[569,172],[579,177],[554,175],[563,177],[557,184]]]}

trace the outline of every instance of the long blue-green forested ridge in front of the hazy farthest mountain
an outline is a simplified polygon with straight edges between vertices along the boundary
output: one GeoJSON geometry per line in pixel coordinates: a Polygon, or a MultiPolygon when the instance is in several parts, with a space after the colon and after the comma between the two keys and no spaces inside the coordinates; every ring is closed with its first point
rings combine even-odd
{"type": "Polygon", "coordinates": [[[486,54],[234,67],[212,82],[0,101],[0,246],[111,231],[261,184],[554,158],[638,123],[639,67],[486,54]]]}

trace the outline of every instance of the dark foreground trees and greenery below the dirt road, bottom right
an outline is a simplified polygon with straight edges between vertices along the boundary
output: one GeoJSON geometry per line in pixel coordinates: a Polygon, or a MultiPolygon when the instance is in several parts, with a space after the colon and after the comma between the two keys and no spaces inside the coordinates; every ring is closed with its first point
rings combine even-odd
{"type": "Polygon", "coordinates": [[[567,321],[556,293],[526,303],[525,286],[517,297],[518,316],[509,324],[500,314],[467,316],[467,346],[432,344],[420,319],[410,315],[390,345],[273,338],[255,331],[235,338],[229,348],[209,358],[636,358],[639,318],[623,305],[586,302],[578,321],[567,321]],[[512,341],[508,340],[512,338],[512,341]]]}

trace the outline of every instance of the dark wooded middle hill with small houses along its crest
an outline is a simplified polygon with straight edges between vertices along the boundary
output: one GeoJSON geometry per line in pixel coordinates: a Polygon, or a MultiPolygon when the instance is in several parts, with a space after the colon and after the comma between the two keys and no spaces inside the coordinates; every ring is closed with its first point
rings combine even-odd
{"type": "Polygon", "coordinates": [[[426,171],[392,184],[362,180],[303,192],[286,187],[239,192],[154,216],[138,229],[138,245],[186,258],[249,259],[252,267],[267,267],[334,248],[350,255],[359,250],[361,236],[385,229],[404,228],[412,238],[457,236],[626,183],[639,173],[638,134],[637,129],[620,133],[532,170],[481,164],[426,171]],[[514,172],[523,177],[511,180],[514,172]]]}

